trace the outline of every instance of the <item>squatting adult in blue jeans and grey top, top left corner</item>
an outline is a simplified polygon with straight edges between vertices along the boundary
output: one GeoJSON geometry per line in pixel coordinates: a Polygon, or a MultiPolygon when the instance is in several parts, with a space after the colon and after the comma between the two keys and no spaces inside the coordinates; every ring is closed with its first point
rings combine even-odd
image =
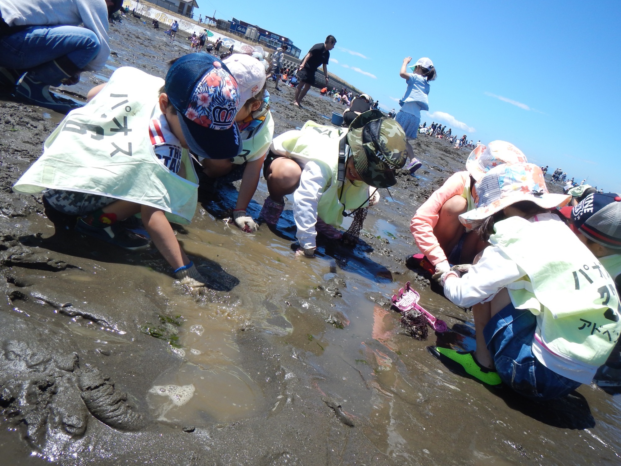
{"type": "Polygon", "coordinates": [[[0,89],[58,112],[75,108],[50,86],[76,84],[82,71],[103,68],[110,54],[108,16],[121,4],[0,0],[0,89]]]}

